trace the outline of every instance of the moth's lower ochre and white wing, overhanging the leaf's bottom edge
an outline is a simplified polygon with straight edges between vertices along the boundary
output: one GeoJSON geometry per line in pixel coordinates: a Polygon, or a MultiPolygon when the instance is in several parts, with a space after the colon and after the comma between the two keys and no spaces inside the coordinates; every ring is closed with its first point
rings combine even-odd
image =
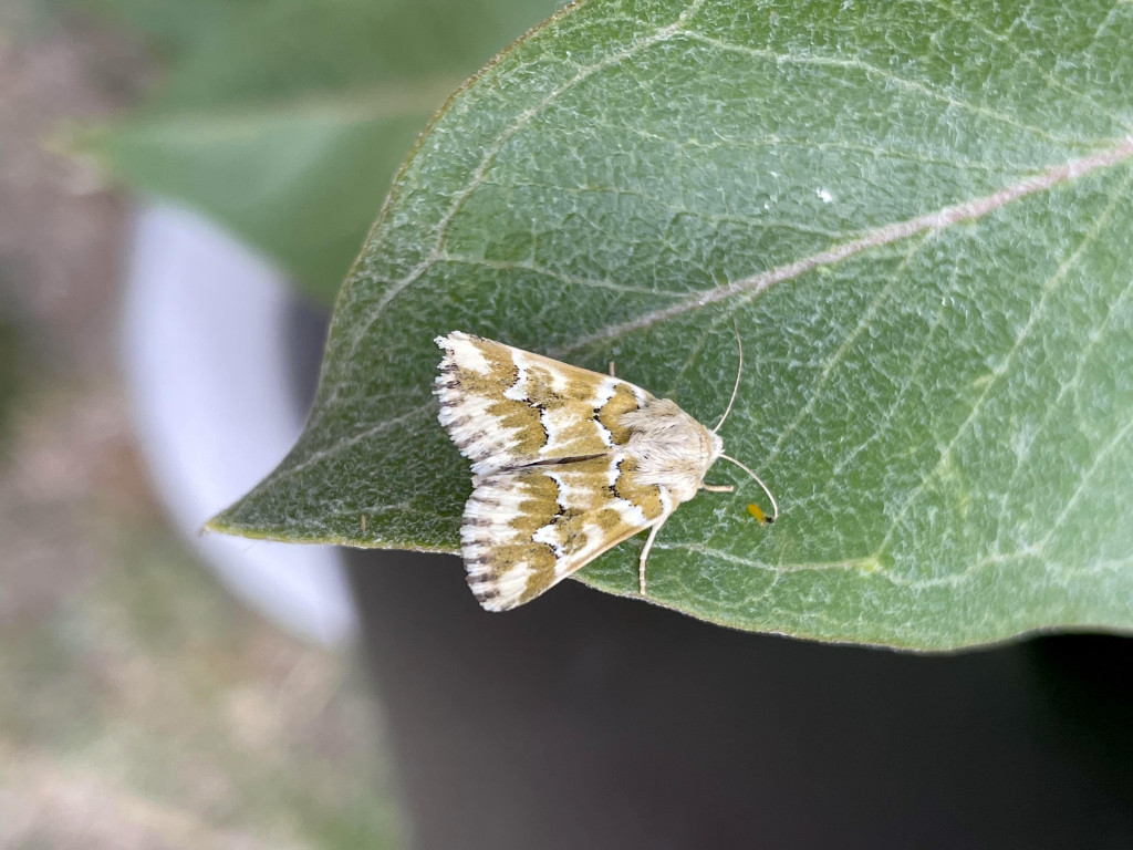
{"type": "Polygon", "coordinates": [[[488,611],[530,602],[672,507],[665,487],[634,481],[612,452],[508,469],[478,481],[460,529],[468,585],[488,611]]]}

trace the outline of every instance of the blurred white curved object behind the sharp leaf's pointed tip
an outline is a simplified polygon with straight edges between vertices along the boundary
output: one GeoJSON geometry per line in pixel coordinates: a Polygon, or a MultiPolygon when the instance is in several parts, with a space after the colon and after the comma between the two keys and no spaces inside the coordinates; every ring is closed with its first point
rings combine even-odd
{"type": "Polygon", "coordinates": [[[303,428],[280,272],[180,207],[140,211],[125,359],[143,452],[178,528],[239,596],[288,630],[341,644],[356,613],[341,554],[201,535],[270,473],[303,428]]]}

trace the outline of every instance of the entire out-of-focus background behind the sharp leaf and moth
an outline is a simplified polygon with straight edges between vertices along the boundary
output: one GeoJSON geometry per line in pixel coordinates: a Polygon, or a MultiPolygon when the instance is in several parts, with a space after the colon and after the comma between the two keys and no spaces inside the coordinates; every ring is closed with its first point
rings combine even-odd
{"type": "Polygon", "coordinates": [[[1133,847],[1133,651],[922,658],[202,538],[553,0],[0,2],[0,848],[1133,847]],[[376,695],[376,696],[375,696],[376,695]]]}

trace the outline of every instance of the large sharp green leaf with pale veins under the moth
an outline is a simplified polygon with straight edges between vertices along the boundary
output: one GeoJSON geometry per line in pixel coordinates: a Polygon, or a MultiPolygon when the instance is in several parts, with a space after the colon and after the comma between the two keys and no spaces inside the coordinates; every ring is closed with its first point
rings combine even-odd
{"type": "MultiPolygon", "coordinates": [[[[1130,43],[1127,2],[572,7],[420,142],[306,432],[212,527],[455,551],[437,333],[613,359],[712,424],[736,321],[722,436],[783,515],[718,465],[653,602],[921,649],[1133,628],[1130,43]]],[[[633,594],[642,543],[580,578],[633,594]]]]}

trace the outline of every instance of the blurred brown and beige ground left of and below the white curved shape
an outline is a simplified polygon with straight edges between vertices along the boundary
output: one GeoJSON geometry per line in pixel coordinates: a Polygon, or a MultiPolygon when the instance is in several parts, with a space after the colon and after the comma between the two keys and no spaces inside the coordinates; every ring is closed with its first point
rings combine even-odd
{"type": "Polygon", "coordinates": [[[221,36],[197,6],[0,3],[0,847],[401,847],[351,655],[203,569],[138,439],[153,196],[79,135],[122,138],[221,36]]]}

